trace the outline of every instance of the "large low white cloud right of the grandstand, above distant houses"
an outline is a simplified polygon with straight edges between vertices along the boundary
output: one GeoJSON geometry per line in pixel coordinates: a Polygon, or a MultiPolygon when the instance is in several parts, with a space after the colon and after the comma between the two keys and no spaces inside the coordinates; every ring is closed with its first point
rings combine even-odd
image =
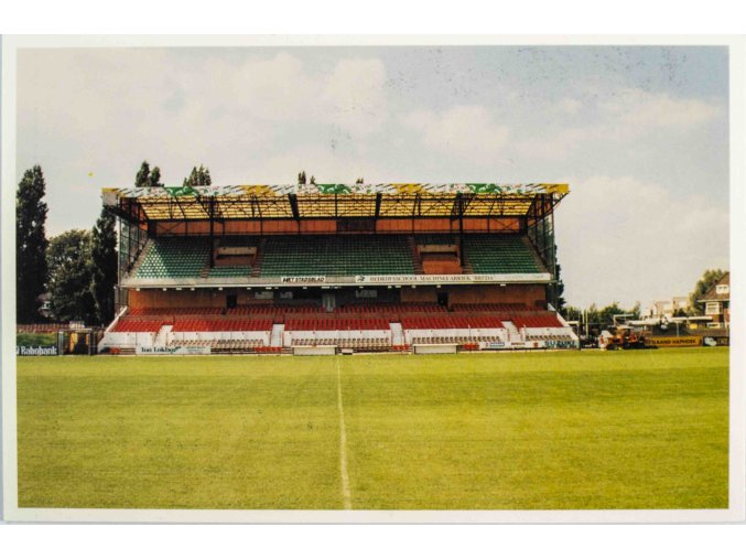
{"type": "Polygon", "coordinates": [[[631,305],[686,295],[706,268],[727,268],[728,213],[705,196],[631,176],[572,181],[556,214],[571,304],[631,305]]]}

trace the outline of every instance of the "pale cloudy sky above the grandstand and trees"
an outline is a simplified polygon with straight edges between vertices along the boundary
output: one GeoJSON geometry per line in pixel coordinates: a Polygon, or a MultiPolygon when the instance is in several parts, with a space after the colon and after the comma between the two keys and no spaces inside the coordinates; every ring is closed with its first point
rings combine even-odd
{"type": "Polygon", "coordinates": [[[181,184],[569,183],[565,298],[642,307],[728,268],[721,46],[28,49],[17,173],[47,235],[90,228],[140,163],[181,184]]]}

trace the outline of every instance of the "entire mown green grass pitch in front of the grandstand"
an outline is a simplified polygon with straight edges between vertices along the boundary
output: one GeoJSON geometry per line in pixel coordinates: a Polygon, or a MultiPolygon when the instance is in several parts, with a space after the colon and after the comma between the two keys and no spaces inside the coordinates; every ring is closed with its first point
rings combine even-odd
{"type": "Polygon", "coordinates": [[[726,348],[21,357],[19,506],[727,507],[726,348]]]}

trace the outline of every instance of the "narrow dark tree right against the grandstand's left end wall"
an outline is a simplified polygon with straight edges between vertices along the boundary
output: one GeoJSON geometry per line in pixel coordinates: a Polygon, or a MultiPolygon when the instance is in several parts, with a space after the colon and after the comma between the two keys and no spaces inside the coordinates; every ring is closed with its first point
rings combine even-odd
{"type": "Polygon", "coordinates": [[[90,292],[99,324],[113,320],[113,289],[117,284],[117,232],[115,217],[101,209],[90,233],[90,292]]]}

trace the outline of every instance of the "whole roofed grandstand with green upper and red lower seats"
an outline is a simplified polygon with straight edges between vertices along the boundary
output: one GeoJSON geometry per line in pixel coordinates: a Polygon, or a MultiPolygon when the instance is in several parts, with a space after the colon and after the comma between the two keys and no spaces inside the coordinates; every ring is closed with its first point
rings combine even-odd
{"type": "Polygon", "coordinates": [[[554,311],[566,184],[105,189],[111,353],[576,347],[554,311]]]}

